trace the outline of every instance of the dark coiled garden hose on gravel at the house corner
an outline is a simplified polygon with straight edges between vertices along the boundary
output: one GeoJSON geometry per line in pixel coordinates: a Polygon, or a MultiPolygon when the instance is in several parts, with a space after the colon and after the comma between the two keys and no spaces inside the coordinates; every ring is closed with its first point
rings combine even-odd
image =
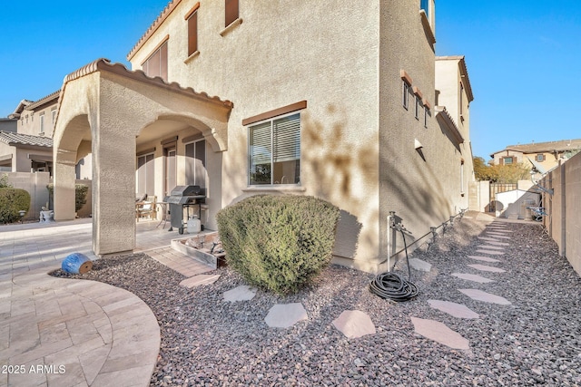
{"type": "Polygon", "coordinates": [[[379,295],[381,298],[392,301],[402,302],[408,301],[418,295],[418,286],[411,282],[411,269],[409,267],[408,245],[406,243],[406,235],[404,228],[395,226],[401,232],[403,237],[403,246],[406,250],[406,261],[408,262],[408,280],[402,278],[396,273],[382,273],[376,276],[369,284],[369,291],[374,295],[379,295]]]}

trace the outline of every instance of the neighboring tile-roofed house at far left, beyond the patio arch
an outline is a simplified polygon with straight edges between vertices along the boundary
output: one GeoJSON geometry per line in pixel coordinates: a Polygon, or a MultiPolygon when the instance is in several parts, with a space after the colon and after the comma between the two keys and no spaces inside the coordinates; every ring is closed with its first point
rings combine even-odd
{"type": "MultiPolygon", "coordinates": [[[[0,132],[0,170],[53,175],[53,133],[59,95],[60,90],[36,102],[18,103],[7,118],[15,122],[15,131],[0,132]]],[[[90,159],[81,160],[76,176],[90,179],[90,159]]]]}

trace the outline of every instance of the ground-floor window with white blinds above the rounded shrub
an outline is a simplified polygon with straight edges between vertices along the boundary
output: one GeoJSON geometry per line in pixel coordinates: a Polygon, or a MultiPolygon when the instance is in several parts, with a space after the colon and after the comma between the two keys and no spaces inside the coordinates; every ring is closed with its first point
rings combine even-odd
{"type": "Polygon", "coordinates": [[[249,129],[250,185],[300,183],[300,113],[249,129]]]}

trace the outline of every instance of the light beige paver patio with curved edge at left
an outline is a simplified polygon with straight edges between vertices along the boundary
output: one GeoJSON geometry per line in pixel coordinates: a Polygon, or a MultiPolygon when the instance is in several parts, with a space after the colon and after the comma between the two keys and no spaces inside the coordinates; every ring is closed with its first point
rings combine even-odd
{"type": "MultiPolygon", "coordinates": [[[[173,254],[176,232],[137,224],[137,248],[185,276],[207,268],[173,254]]],[[[48,276],[91,259],[91,219],[0,226],[0,386],[148,386],[160,347],[151,309],[123,289],[48,276]]]]}

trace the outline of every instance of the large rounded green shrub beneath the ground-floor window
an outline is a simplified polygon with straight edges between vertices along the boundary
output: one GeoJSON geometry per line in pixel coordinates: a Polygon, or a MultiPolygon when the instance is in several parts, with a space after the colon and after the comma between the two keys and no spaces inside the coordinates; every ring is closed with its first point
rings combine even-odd
{"type": "Polygon", "coordinates": [[[261,195],[216,218],[228,265],[251,285],[289,294],[330,264],[339,215],[319,198],[261,195]]]}

